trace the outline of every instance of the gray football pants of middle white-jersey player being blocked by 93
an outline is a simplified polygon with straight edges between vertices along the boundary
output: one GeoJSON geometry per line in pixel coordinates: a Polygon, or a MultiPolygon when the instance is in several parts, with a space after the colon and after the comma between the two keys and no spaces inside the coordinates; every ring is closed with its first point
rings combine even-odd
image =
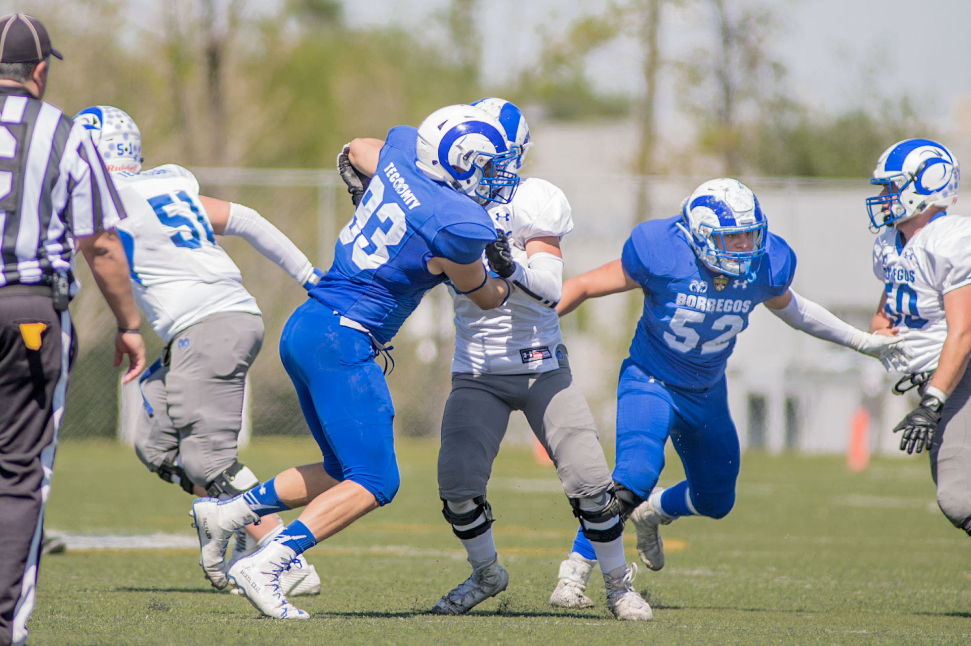
{"type": "Polygon", "coordinates": [[[563,346],[557,348],[560,356],[559,368],[539,374],[452,373],[438,454],[440,497],[458,501],[485,495],[514,410],[525,414],[568,497],[597,497],[610,488],[597,428],[583,392],[573,383],[563,346]]]}

